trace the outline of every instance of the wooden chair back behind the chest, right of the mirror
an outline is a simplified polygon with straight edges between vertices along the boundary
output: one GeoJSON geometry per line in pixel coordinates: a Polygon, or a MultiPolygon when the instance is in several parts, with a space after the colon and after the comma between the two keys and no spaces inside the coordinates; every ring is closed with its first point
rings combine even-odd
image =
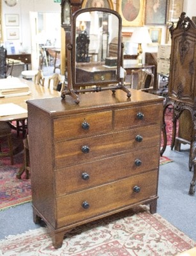
{"type": "Polygon", "coordinates": [[[146,69],[142,68],[139,70],[132,70],[130,79],[131,79],[131,88],[134,88],[133,83],[135,80],[137,80],[136,82],[137,86],[134,89],[137,89],[143,92],[153,91],[154,74],[147,71],[146,69]]]}

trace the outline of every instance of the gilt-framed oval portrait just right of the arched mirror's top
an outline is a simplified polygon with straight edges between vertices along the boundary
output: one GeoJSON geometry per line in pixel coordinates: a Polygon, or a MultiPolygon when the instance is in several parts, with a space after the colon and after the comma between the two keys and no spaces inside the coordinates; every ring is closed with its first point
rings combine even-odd
{"type": "Polygon", "coordinates": [[[116,6],[123,26],[144,26],[144,0],[117,0],[116,6]]]}

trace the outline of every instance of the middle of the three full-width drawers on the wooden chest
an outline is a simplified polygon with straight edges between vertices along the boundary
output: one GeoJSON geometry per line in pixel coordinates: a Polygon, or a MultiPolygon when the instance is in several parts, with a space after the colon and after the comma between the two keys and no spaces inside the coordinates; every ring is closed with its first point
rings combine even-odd
{"type": "Polygon", "coordinates": [[[160,147],[146,148],[57,170],[56,195],[112,182],[158,168],[160,147]]]}

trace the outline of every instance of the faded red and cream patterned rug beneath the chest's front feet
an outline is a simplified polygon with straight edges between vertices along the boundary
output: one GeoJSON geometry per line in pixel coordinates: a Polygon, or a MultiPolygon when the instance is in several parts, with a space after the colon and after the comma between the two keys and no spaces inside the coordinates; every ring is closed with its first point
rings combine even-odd
{"type": "Polygon", "coordinates": [[[172,256],[185,252],[196,243],[147,207],[77,227],[64,237],[55,250],[47,228],[30,230],[0,241],[4,256],[172,256]],[[134,214],[135,213],[135,214],[134,214]]]}

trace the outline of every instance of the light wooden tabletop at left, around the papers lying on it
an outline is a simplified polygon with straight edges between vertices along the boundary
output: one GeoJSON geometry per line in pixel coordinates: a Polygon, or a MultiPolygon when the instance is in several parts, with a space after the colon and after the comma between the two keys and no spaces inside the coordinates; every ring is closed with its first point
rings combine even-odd
{"type": "MultiPolygon", "coordinates": [[[[34,84],[32,81],[27,81],[26,79],[20,79],[22,83],[26,83],[29,86],[29,95],[22,95],[17,97],[4,97],[0,98],[0,104],[14,103],[19,105],[22,108],[27,109],[26,100],[29,99],[43,99],[43,98],[52,98],[59,97],[61,100],[61,92],[57,92],[47,87],[43,87],[37,84],[34,84]]],[[[1,80],[0,80],[1,84],[1,80]]],[[[27,113],[20,115],[9,115],[9,116],[0,116],[0,121],[10,122],[11,120],[20,120],[27,118],[27,113]]]]}

